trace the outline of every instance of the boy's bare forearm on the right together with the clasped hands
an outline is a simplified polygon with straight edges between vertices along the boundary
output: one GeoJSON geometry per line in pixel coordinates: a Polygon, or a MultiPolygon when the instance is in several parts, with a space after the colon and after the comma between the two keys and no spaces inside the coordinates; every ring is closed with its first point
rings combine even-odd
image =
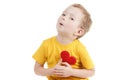
{"type": "Polygon", "coordinates": [[[59,77],[80,77],[80,78],[88,78],[94,75],[95,70],[94,69],[73,69],[71,66],[64,62],[62,63],[63,67],[56,67],[55,68],[55,74],[59,77]]]}

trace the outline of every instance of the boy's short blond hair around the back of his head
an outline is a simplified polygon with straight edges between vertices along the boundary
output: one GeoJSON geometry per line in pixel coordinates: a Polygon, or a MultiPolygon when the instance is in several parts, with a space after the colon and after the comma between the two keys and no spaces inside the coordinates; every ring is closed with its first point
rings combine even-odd
{"type": "MultiPolygon", "coordinates": [[[[84,15],[80,27],[84,29],[84,34],[83,35],[85,35],[89,31],[89,29],[91,27],[91,24],[92,24],[90,14],[81,4],[73,4],[72,6],[76,7],[76,8],[79,8],[84,15]]],[[[82,37],[82,36],[78,36],[77,39],[82,37]]]]}

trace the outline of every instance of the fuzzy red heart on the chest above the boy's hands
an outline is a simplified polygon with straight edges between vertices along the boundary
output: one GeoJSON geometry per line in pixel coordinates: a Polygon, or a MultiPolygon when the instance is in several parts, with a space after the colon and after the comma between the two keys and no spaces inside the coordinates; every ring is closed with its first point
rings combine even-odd
{"type": "Polygon", "coordinates": [[[62,62],[67,62],[70,65],[73,65],[76,63],[76,58],[74,56],[70,56],[68,51],[62,51],[61,58],[62,58],[62,62]]]}

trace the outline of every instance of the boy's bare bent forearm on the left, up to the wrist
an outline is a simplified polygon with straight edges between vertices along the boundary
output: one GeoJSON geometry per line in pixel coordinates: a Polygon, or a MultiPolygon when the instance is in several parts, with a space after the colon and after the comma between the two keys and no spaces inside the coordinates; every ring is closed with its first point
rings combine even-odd
{"type": "Polygon", "coordinates": [[[50,76],[53,73],[53,69],[45,69],[44,65],[40,65],[36,62],[34,66],[34,72],[40,76],[50,76]]]}

